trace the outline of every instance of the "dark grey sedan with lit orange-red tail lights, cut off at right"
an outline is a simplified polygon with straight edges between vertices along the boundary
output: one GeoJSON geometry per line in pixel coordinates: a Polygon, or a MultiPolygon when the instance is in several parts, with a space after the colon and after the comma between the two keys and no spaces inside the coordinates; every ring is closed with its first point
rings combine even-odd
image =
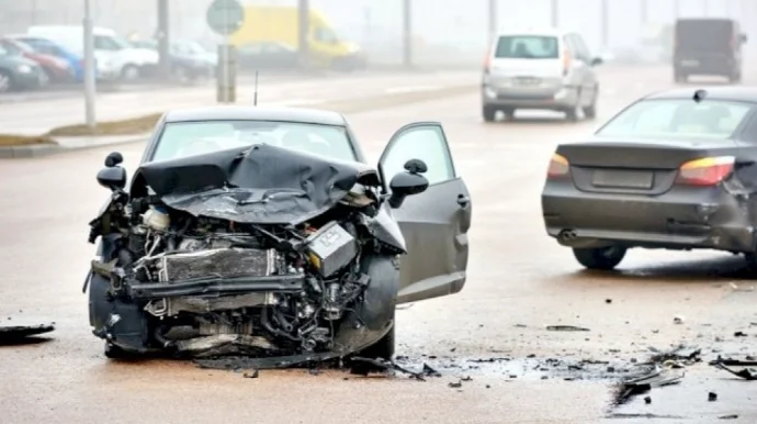
{"type": "Polygon", "coordinates": [[[726,250],[757,268],[756,164],[757,89],[652,94],[590,141],[557,146],[546,232],[590,269],[614,268],[632,247],[726,250]]]}

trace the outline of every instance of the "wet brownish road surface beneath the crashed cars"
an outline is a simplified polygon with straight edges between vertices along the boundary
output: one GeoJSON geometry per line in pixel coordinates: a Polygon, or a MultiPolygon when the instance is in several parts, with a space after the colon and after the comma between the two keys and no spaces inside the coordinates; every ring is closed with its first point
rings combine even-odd
{"type": "MultiPolygon", "coordinates": [[[[656,421],[645,414],[674,416],[660,422],[719,422],[728,414],[755,422],[757,382],[704,364],[687,369],[678,387],[654,389],[651,404],[635,399],[609,408],[613,382],[651,348],[696,344],[705,360],[757,350],[750,327],[757,292],[738,258],[632,250],[618,272],[587,272],[542,226],[539,193],[554,145],[670,87],[669,77],[667,69],[603,75],[598,120],[577,124],[539,112],[485,124],[476,91],[349,116],[373,157],[400,125],[441,121],[472,192],[464,290],[398,311],[397,354],[409,368],[427,362],[443,375],[425,382],[303,370],[247,379],[187,362],[109,361],[90,334],[81,284],[93,255],[87,222],[106,196],[94,175],[112,148],[0,161],[0,317],[58,323],[48,343],[0,347],[0,422],[584,424],[612,414],[623,422],[656,421]],[[448,387],[468,376],[462,388],[448,387]],[[716,402],[708,402],[710,391],[716,402]]],[[[132,167],[140,149],[120,147],[132,167]]]]}

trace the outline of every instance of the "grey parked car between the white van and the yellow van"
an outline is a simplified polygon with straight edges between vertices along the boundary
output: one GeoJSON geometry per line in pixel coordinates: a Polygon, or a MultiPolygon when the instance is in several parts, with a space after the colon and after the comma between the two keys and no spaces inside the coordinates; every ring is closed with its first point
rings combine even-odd
{"type": "MultiPolygon", "coordinates": [[[[131,43],[137,48],[158,51],[157,40],[140,40],[131,43]]],[[[210,54],[202,46],[193,42],[178,41],[170,45],[171,76],[182,82],[197,78],[212,78],[217,57],[210,54]]]]}

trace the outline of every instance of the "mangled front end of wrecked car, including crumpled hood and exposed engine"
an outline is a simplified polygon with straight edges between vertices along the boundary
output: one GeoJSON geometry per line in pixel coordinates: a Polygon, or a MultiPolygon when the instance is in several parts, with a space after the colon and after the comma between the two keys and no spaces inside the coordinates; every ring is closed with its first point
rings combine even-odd
{"type": "Polygon", "coordinates": [[[376,343],[405,252],[378,185],[362,164],[269,145],[143,165],[90,223],[93,333],[111,352],[268,367],[376,343]]]}

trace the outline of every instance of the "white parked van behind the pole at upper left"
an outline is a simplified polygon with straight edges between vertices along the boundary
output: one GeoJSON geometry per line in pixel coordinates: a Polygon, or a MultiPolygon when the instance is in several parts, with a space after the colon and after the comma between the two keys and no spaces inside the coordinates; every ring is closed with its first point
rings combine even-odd
{"type": "MultiPolygon", "coordinates": [[[[77,53],[84,51],[84,30],[76,25],[31,26],[27,34],[45,37],[77,53]]],[[[158,53],[147,48],[135,48],[120,37],[115,31],[95,26],[94,58],[100,79],[133,81],[152,74],[158,67],[158,53]]]]}

